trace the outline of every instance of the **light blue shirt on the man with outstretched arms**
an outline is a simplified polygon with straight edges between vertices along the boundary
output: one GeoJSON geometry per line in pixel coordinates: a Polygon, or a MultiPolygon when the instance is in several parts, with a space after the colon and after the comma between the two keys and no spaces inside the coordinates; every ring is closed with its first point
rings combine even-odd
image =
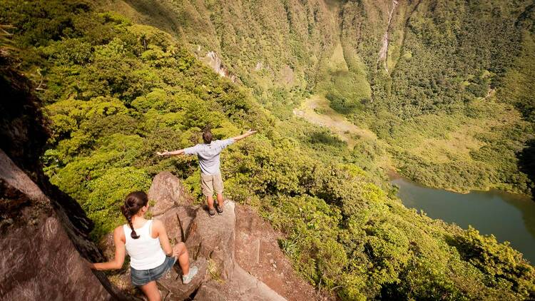
{"type": "Polygon", "coordinates": [[[212,141],[210,144],[198,144],[190,148],[184,148],[185,155],[197,155],[199,158],[200,172],[205,175],[217,175],[220,161],[219,154],[224,148],[234,143],[233,138],[212,141]]]}

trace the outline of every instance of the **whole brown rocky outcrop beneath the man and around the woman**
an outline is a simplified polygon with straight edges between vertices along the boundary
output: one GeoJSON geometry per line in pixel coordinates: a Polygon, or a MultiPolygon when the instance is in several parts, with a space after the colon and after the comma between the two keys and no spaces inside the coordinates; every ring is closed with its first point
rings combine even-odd
{"type": "MultiPolygon", "coordinates": [[[[167,172],[156,175],[149,195],[155,202],[153,208],[166,208],[155,210],[159,214],[154,218],[163,220],[173,243],[185,242],[190,264],[199,267],[189,285],[182,284],[178,265],[158,280],[163,300],[330,299],[317,295],[314,287],[296,275],[278,246],[280,233],[252,208],[225,200],[223,213],[210,217],[204,206],[185,205],[190,202],[183,200],[190,198],[178,178],[167,172]]],[[[111,234],[102,245],[111,259],[111,234]]],[[[124,270],[112,282],[123,292],[136,294],[128,277],[124,270]]]]}

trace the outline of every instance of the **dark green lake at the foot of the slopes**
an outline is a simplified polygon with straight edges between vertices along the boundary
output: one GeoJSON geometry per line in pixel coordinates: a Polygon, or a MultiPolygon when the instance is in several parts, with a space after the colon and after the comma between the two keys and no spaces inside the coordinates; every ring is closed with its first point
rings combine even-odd
{"type": "Polygon", "coordinates": [[[439,218],[481,234],[494,234],[499,242],[509,241],[533,265],[535,262],[535,202],[522,195],[499,190],[453,193],[428,188],[405,178],[391,181],[399,186],[397,196],[407,208],[424,210],[439,218]]]}

